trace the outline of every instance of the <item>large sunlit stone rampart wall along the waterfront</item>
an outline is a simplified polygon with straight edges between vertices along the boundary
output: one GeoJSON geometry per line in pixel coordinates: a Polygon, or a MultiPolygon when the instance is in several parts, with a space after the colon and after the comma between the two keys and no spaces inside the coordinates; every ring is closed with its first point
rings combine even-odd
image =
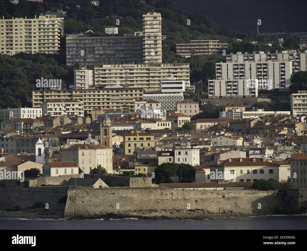
{"type": "Polygon", "coordinates": [[[203,210],[225,214],[278,214],[283,196],[274,191],[173,190],[164,188],[68,190],[65,218],[107,214],[203,210]],[[260,203],[260,204],[259,204],[260,203]]]}

